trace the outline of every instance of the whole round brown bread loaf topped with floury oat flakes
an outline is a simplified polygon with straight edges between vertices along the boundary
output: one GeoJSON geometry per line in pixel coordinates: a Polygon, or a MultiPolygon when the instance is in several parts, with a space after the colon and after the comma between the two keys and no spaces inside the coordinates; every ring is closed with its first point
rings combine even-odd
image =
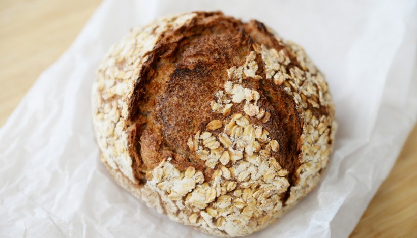
{"type": "Polygon", "coordinates": [[[118,184],[218,236],[258,231],[310,192],[336,131],[327,83],[303,48],[221,12],[132,30],[102,61],[92,97],[101,160],[118,184]]]}

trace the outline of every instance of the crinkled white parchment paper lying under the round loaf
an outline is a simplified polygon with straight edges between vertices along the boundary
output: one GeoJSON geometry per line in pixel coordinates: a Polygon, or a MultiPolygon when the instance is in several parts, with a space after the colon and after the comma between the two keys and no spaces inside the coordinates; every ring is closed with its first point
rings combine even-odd
{"type": "Polygon", "coordinates": [[[104,1],[0,130],[0,236],[207,236],[117,186],[90,120],[94,71],[110,45],[133,26],[190,10],[256,18],[301,44],[336,103],[339,130],[322,182],[256,235],[349,235],[416,121],[416,1],[104,1]]]}

